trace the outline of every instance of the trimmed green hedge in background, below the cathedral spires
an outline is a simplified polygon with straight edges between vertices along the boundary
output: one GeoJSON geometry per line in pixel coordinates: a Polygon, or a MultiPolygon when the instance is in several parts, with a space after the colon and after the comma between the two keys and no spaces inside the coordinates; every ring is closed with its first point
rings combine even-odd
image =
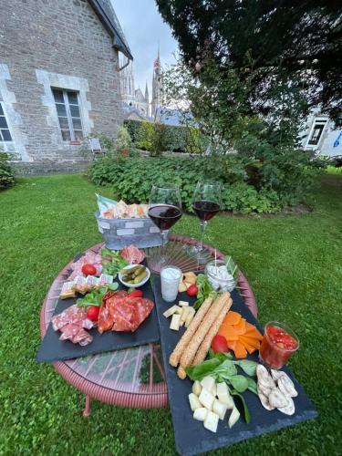
{"type": "Polygon", "coordinates": [[[150,150],[152,155],[162,151],[202,153],[208,146],[208,140],[195,127],[177,127],[147,120],[125,120],[124,125],[130,133],[135,146],[150,150]]]}

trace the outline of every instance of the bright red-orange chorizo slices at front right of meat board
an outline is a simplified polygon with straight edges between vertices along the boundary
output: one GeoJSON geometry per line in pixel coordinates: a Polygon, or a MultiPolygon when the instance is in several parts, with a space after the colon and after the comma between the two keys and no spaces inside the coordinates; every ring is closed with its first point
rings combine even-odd
{"type": "Polygon", "coordinates": [[[135,331],[150,315],[154,303],[150,299],[130,297],[126,292],[118,291],[103,297],[99,309],[98,332],[135,331]]]}

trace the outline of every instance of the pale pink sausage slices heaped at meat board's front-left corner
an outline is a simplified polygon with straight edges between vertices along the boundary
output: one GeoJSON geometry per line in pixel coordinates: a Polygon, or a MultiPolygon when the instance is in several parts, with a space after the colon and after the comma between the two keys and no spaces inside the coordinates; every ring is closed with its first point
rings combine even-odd
{"type": "Polygon", "coordinates": [[[94,323],[87,318],[84,308],[70,306],[57,316],[51,318],[52,327],[55,331],[60,331],[60,340],[71,340],[74,344],[82,346],[90,344],[93,337],[86,331],[91,329],[94,323]]]}

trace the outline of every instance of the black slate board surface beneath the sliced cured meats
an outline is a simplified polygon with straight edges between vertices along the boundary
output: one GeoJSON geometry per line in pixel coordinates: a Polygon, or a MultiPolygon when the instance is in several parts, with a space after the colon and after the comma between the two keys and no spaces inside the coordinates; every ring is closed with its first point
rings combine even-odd
{"type": "MultiPolygon", "coordinates": [[[[118,279],[119,282],[119,279],[118,279]]],[[[119,283],[119,289],[127,288],[119,283]]],[[[153,291],[150,281],[140,286],[144,297],[154,301],[153,291]]],[[[59,299],[55,308],[54,315],[60,314],[68,306],[76,304],[76,298],[59,299]]],[[[139,326],[134,333],[124,333],[115,331],[106,331],[103,334],[98,333],[97,328],[88,331],[93,336],[93,341],[85,347],[73,344],[70,340],[59,340],[60,332],[54,331],[52,324],[47,327],[47,333],[39,347],[36,355],[36,361],[55,362],[66,359],[87,357],[105,351],[119,350],[122,348],[135,347],[149,342],[157,342],[160,339],[159,326],[157,320],[156,306],[154,306],[150,316],[139,326]]]]}

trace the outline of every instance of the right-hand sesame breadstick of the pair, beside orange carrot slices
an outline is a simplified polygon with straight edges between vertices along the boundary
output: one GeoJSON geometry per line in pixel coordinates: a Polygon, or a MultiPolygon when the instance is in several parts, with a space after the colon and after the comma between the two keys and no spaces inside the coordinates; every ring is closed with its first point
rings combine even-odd
{"type": "Polygon", "coordinates": [[[188,347],[184,349],[181,355],[181,368],[187,368],[192,363],[192,359],[194,358],[198,347],[200,347],[203,338],[206,336],[212,323],[221,314],[223,306],[229,300],[230,296],[231,295],[228,292],[224,292],[214,301],[205,318],[203,318],[201,325],[193,335],[188,347]]]}

